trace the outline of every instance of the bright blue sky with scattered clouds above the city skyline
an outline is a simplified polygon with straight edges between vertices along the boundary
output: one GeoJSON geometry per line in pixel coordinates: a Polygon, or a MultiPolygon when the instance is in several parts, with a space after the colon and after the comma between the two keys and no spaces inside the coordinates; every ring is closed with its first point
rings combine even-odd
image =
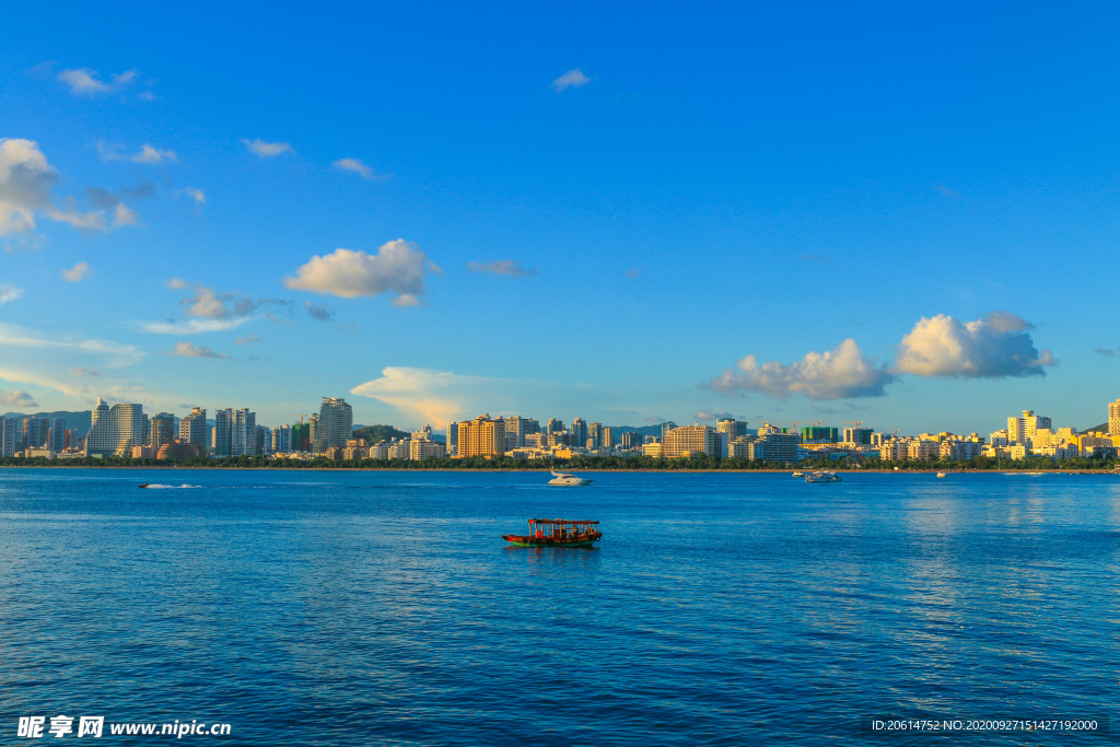
{"type": "Polygon", "coordinates": [[[1116,7],[6,12],[0,410],[986,433],[1120,396],[1116,7]]]}

